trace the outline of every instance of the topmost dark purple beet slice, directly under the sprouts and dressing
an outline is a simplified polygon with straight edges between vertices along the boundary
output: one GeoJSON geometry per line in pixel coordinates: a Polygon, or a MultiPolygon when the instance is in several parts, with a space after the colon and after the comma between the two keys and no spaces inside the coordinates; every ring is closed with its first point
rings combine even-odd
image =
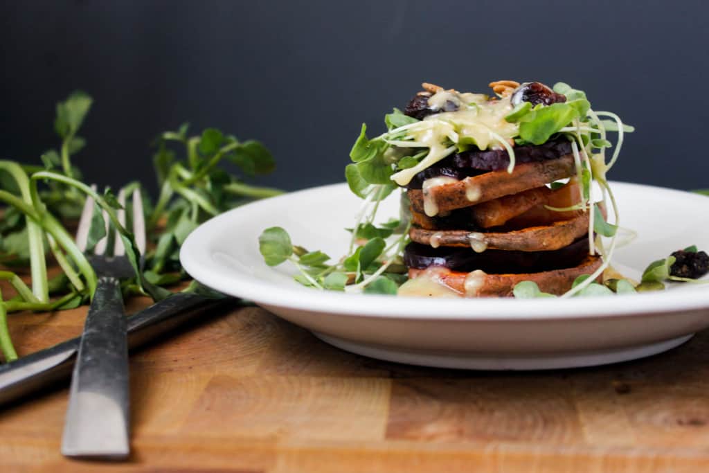
{"type": "MultiPolygon", "coordinates": [[[[515,147],[515,162],[542,162],[555,160],[571,154],[571,142],[564,138],[547,141],[543,145],[523,145],[515,147]]],[[[510,165],[510,155],[506,150],[468,150],[450,155],[435,165],[416,174],[407,189],[421,189],[426,179],[439,176],[465,177],[476,176],[484,172],[507,169],[510,165]]]]}

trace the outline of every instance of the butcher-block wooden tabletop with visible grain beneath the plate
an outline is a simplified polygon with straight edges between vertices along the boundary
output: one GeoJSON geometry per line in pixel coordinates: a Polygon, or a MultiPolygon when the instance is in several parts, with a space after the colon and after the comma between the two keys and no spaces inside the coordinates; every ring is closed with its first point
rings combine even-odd
{"type": "MultiPolygon", "coordinates": [[[[145,301],[133,301],[133,309],[145,301]]],[[[85,310],[11,316],[27,354],[85,310]]],[[[704,472],[709,333],[608,367],[474,372],[380,362],[260,308],[130,359],[133,455],[67,460],[66,386],[0,412],[4,472],[704,472]]]]}

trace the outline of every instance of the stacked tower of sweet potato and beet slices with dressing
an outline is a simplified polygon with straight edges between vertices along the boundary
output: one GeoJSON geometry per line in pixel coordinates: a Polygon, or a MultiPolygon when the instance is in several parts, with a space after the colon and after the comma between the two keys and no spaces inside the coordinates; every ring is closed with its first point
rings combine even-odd
{"type": "Polygon", "coordinates": [[[564,294],[595,272],[602,260],[586,204],[590,172],[561,133],[576,111],[566,96],[539,82],[493,82],[492,99],[423,87],[404,113],[431,122],[408,130],[428,153],[391,176],[411,208],[403,292],[511,296],[515,284],[532,281],[564,294]],[[535,128],[521,139],[530,117],[535,128]]]}

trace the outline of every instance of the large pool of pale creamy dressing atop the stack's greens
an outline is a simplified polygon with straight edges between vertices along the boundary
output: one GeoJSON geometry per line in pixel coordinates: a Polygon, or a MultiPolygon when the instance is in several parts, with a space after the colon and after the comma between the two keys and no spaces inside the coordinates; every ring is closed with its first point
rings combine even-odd
{"type": "Polygon", "coordinates": [[[476,145],[481,150],[503,148],[494,135],[510,140],[519,134],[519,124],[505,120],[513,109],[509,96],[489,101],[483,94],[444,90],[428,99],[428,105],[434,110],[444,108],[447,102],[459,109],[434,113],[408,128],[407,138],[413,138],[429,151],[418,165],[392,174],[391,179],[396,184],[405,186],[415,174],[457,150],[459,144],[476,145]]]}

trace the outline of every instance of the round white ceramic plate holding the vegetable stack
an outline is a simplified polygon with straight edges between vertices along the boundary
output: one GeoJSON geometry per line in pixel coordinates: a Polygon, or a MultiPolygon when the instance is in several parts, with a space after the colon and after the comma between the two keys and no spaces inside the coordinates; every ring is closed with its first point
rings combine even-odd
{"type": "MultiPolygon", "coordinates": [[[[709,248],[709,199],[615,182],[621,226],[637,231],[614,262],[637,277],[652,260],[709,248]]],[[[264,264],[258,237],[281,226],[296,245],[340,257],[361,201],[335,184],[235,208],[194,230],[180,259],[199,282],[256,304],[351,352],[415,365],[547,369],[601,365],[668,350],[709,326],[709,287],[573,299],[430,299],[301,286],[289,263],[264,264]]],[[[379,215],[398,215],[387,199],[379,215]]]]}

